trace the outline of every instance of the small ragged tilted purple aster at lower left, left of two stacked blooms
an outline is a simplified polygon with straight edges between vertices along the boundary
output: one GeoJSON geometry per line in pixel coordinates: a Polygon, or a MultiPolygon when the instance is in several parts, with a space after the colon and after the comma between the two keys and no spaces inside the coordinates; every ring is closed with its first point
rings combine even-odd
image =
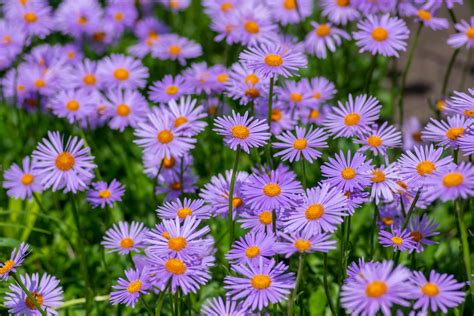
{"type": "Polygon", "coordinates": [[[110,293],[110,302],[113,305],[125,304],[135,307],[140,295],[148,294],[151,288],[150,271],[144,269],[129,269],[125,271],[125,278],[119,278],[110,293]]]}

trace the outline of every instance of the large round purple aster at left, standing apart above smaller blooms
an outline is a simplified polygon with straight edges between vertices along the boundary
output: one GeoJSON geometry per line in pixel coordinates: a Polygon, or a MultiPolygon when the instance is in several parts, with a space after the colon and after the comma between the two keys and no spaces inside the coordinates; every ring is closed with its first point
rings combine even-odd
{"type": "Polygon", "coordinates": [[[84,140],[69,137],[64,145],[64,137],[59,132],[48,132],[48,138],[43,138],[32,157],[32,168],[41,184],[45,189],[52,187],[53,191],[85,190],[94,177],[92,170],[97,167],[84,140]]]}

